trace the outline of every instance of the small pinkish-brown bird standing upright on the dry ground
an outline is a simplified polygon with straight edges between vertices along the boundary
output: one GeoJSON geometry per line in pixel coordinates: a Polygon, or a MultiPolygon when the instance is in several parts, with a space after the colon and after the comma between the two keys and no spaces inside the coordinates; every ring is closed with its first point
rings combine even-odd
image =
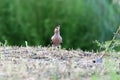
{"type": "Polygon", "coordinates": [[[57,25],[54,29],[54,35],[51,37],[52,47],[61,48],[62,37],[60,35],[60,25],[57,25]]]}

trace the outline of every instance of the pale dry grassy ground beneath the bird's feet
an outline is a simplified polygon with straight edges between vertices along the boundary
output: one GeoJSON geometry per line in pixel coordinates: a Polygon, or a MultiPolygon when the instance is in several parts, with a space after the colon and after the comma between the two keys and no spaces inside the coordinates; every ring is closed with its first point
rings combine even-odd
{"type": "Polygon", "coordinates": [[[0,47],[0,80],[119,80],[120,54],[52,49],[0,47]]]}

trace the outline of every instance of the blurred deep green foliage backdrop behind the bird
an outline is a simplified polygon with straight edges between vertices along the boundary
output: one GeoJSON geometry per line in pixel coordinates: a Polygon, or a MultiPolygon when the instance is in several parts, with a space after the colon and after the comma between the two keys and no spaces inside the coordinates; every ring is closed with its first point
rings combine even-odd
{"type": "MultiPolygon", "coordinates": [[[[119,1],[119,0],[118,0],[119,1]]],[[[0,42],[48,46],[57,24],[62,47],[97,49],[120,25],[117,0],[0,0],[0,42]]]]}

